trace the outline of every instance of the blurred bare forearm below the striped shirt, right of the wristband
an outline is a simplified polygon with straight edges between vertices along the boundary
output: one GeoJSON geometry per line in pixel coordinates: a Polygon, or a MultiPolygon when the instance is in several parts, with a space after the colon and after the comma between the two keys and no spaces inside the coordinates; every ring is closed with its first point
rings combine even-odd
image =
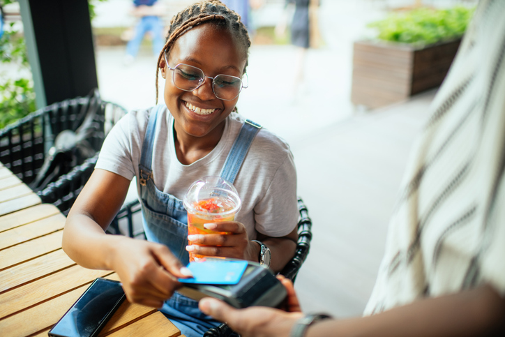
{"type": "Polygon", "coordinates": [[[325,320],[310,327],[306,336],[503,336],[504,322],[505,299],[485,285],[369,317],[325,320]]]}

